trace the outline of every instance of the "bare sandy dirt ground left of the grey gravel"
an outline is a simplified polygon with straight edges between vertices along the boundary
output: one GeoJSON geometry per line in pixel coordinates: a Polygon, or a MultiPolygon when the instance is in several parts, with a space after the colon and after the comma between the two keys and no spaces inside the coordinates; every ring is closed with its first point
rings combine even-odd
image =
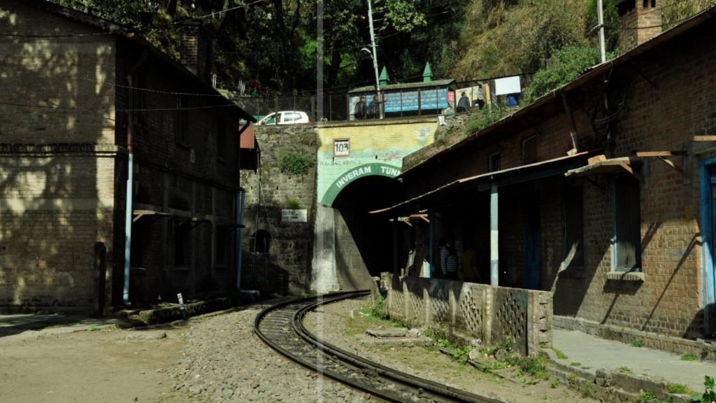
{"type": "Polygon", "coordinates": [[[182,332],[111,326],[0,338],[0,400],[190,402],[171,391],[167,374],[183,347],[182,332]]]}

